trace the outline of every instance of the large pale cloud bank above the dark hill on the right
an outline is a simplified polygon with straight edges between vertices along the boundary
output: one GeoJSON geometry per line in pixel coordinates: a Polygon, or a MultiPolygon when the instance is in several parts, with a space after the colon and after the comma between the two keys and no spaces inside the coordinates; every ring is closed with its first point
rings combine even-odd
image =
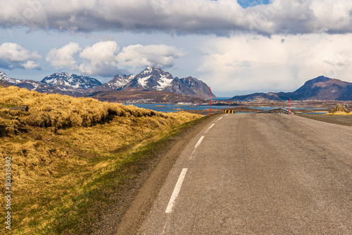
{"type": "Polygon", "coordinates": [[[241,35],[203,44],[201,79],[228,93],[293,91],[320,75],[352,82],[352,34],[241,35]],[[283,40],[284,39],[284,40],[283,40]]]}

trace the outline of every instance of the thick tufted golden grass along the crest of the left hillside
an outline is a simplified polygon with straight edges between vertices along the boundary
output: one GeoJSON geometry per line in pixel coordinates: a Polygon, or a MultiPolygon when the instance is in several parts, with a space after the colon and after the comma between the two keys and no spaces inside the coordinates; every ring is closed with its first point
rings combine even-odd
{"type": "MultiPolygon", "coordinates": [[[[96,99],[73,98],[59,94],[39,94],[36,91],[8,87],[0,89],[0,107],[29,106],[27,116],[20,118],[27,125],[37,127],[89,127],[106,120],[108,115],[120,117],[162,116],[167,115],[153,110],[123,106],[116,103],[101,103],[96,99]]],[[[6,113],[6,108],[1,111],[6,113]]],[[[15,116],[18,110],[8,111],[15,116]]]]}

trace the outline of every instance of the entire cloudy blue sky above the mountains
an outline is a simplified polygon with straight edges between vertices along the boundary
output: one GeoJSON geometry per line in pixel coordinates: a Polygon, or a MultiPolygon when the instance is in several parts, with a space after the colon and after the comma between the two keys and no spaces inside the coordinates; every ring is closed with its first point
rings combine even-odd
{"type": "Polygon", "coordinates": [[[108,82],[149,65],[217,96],[352,82],[349,0],[0,0],[0,71],[108,82]]]}

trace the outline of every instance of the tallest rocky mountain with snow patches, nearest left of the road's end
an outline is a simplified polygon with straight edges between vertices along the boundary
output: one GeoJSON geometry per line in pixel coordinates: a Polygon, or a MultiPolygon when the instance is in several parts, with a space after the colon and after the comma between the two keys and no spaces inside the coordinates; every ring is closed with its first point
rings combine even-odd
{"type": "MultiPolygon", "coordinates": [[[[174,78],[169,72],[156,67],[146,68],[121,90],[168,91],[199,98],[209,97],[209,87],[206,83],[194,77],[174,78]]],[[[216,96],[212,93],[212,97],[215,98],[216,96]]]]}

